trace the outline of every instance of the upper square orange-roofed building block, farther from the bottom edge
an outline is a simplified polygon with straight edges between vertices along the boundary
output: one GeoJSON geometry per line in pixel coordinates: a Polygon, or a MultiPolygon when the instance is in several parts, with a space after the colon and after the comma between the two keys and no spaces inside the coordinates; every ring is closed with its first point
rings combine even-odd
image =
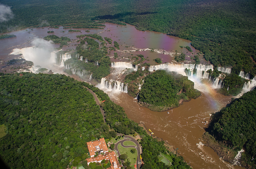
{"type": "Polygon", "coordinates": [[[95,152],[99,152],[99,154],[108,152],[108,147],[104,138],[100,138],[93,142],[87,142],[87,147],[91,157],[94,157],[95,152]]]}

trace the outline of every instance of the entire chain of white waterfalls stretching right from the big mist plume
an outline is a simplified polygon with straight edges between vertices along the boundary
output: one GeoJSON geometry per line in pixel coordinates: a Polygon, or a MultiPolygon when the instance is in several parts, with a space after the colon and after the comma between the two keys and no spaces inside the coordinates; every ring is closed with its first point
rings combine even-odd
{"type": "MultiPolygon", "coordinates": [[[[76,55],[76,57],[79,57],[78,55],[76,55]]],[[[56,58],[56,54],[55,54],[55,58],[56,58]]],[[[76,74],[76,68],[71,68],[70,65],[66,64],[64,65],[64,62],[66,60],[68,60],[69,58],[71,58],[71,55],[69,53],[65,53],[65,54],[61,54],[60,55],[60,60],[59,60],[59,64],[60,66],[64,66],[65,69],[69,69],[72,71],[73,74],[76,74]]],[[[83,56],[80,56],[80,60],[83,61],[83,56]]],[[[85,58],[85,62],[88,62],[88,59],[85,58]]],[[[98,61],[95,61],[96,65],[99,65],[98,61]]],[[[133,65],[132,63],[129,62],[112,62],[111,63],[111,67],[116,68],[116,69],[133,69],[134,71],[138,70],[138,65],[133,65]]],[[[174,63],[163,63],[163,64],[159,64],[159,65],[153,65],[150,66],[148,68],[149,71],[153,71],[153,70],[168,70],[168,71],[174,71],[177,72],[179,74],[182,74],[184,76],[188,76],[188,77],[197,77],[197,78],[201,78],[201,79],[208,79],[209,81],[212,81],[212,87],[213,88],[222,88],[224,83],[221,80],[220,77],[211,77],[210,73],[207,73],[208,70],[212,70],[213,71],[213,65],[205,65],[205,64],[174,64],[174,63]]],[[[142,67],[142,70],[145,70],[145,67],[142,67]]],[[[225,67],[217,67],[218,71],[221,71],[223,73],[231,73],[231,68],[225,68],[225,67]]],[[[81,74],[81,76],[84,76],[84,72],[79,72],[78,74],[81,74]]],[[[244,73],[243,71],[240,72],[239,76],[241,76],[244,79],[249,80],[250,79],[250,73],[244,73]]],[[[90,76],[89,80],[92,79],[92,75],[90,76]]],[[[101,79],[102,81],[102,79],[101,79]]],[[[107,81],[113,81],[113,80],[106,80],[107,81]]],[[[102,82],[103,83],[103,82],[102,82]]],[[[101,85],[101,87],[107,88],[108,90],[116,90],[117,86],[119,85],[119,82],[116,81],[116,85],[101,85]]],[[[122,83],[120,84],[122,85],[122,83]]],[[[120,88],[121,86],[119,85],[118,88],[120,88]]],[[[252,90],[252,88],[256,86],[256,77],[254,77],[252,80],[249,80],[248,82],[244,83],[244,87],[243,89],[245,90],[252,90]]],[[[121,87],[119,91],[123,91],[126,92],[127,90],[125,90],[125,86],[121,87]],[[122,89],[121,89],[122,88],[122,89]]]]}

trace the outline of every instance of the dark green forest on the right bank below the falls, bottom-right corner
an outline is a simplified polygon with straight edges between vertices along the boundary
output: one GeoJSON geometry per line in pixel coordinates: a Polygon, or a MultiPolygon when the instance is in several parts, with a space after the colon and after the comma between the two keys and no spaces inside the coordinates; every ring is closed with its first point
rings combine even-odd
{"type": "Polygon", "coordinates": [[[242,153],[242,164],[256,167],[256,90],[244,93],[216,113],[206,129],[221,144],[242,153]]]}

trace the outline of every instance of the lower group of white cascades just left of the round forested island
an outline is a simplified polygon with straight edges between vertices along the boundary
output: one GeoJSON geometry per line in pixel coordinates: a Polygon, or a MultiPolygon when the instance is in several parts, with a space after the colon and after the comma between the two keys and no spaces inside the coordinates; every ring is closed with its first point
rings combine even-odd
{"type": "Polygon", "coordinates": [[[128,92],[128,85],[124,85],[124,83],[118,81],[118,80],[108,80],[105,77],[101,78],[100,82],[100,88],[101,89],[108,89],[110,91],[120,91],[120,92],[128,92]],[[114,83],[113,83],[114,82],[114,83]],[[114,86],[112,86],[113,84],[114,86]]]}

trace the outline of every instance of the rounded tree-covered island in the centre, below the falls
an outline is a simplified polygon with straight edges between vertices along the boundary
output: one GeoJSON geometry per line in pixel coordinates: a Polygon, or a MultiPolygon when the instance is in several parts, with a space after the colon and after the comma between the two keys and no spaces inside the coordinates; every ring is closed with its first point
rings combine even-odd
{"type": "Polygon", "coordinates": [[[139,102],[151,110],[164,111],[179,106],[179,101],[197,98],[201,93],[194,89],[194,82],[174,72],[156,70],[145,77],[138,94],[139,102]]]}

